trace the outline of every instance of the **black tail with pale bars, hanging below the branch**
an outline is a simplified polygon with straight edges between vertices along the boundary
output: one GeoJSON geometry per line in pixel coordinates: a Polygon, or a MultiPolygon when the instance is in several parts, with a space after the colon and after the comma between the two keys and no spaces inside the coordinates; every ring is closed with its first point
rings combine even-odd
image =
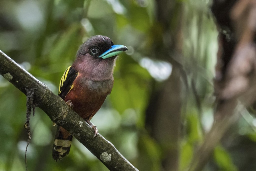
{"type": "Polygon", "coordinates": [[[57,161],[69,154],[73,136],[64,128],[58,126],[54,144],[52,147],[52,158],[57,161]]]}

